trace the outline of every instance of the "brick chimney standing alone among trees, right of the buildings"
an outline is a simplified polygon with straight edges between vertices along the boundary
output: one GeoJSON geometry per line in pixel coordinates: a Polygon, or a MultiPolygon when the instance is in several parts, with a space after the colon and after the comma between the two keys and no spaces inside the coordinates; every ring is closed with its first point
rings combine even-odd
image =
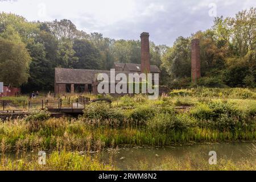
{"type": "Polygon", "coordinates": [[[191,42],[191,77],[194,83],[201,77],[199,39],[193,39],[191,42]]]}

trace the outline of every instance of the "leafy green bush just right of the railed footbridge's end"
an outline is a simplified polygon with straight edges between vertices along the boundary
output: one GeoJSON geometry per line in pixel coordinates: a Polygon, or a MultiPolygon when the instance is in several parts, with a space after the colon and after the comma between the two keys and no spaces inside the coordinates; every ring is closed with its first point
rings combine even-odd
{"type": "Polygon", "coordinates": [[[118,108],[109,108],[109,104],[92,103],[85,107],[84,117],[89,119],[117,119],[123,121],[125,115],[118,108]]]}

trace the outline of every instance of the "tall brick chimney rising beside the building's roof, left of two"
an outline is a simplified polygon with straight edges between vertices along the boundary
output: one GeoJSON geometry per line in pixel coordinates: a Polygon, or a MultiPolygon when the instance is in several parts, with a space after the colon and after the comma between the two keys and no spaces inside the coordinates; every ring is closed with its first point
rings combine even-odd
{"type": "Polygon", "coordinates": [[[150,49],[149,34],[143,32],[141,34],[141,72],[150,73],[150,49]]]}

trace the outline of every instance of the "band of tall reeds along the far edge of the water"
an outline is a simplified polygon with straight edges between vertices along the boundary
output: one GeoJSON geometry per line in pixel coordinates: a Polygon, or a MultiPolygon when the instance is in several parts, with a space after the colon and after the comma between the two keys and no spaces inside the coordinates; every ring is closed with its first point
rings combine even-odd
{"type": "MultiPolygon", "coordinates": [[[[180,118],[181,119],[181,118],[180,118]]],[[[219,131],[198,126],[179,130],[151,130],[134,125],[119,127],[115,121],[51,118],[41,122],[16,119],[0,123],[0,150],[23,152],[27,150],[101,151],[104,147],[119,145],[168,146],[177,142],[217,142],[224,140],[255,140],[254,129],[219,131]]],[[[179,121],[180,122],[180,121],[179,121]]],[[[179,124],[179,123],[178,123],[179,124]]],[[[172,124],[173,126],[173,124],[172,124]]],[[[180,124],[178,125],[180,126],[180,124]]],[[[182,126],[184,127],[184,126],[182,126]]]]}

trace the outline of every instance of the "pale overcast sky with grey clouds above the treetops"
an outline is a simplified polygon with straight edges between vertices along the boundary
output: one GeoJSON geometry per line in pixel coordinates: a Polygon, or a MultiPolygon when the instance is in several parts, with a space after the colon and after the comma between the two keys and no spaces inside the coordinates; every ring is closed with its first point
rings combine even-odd
{"type": "Polygon", "coordinates": [[[0,0],[0,11],[27,20],[70,19],[85,32],[114,39],[139,39],[149,32],[156,44],[172,46],[178,36],[206,30],[214,16],[234,16],[255,0],[0,0]]]}

